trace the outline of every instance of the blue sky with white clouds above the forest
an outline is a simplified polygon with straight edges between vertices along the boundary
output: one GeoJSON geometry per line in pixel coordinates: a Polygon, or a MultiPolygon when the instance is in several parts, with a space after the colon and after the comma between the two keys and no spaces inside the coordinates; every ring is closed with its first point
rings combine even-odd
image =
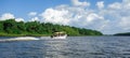
{"type": "Polygon", "coordinates": [[[0,20],[75,26],[104,34],[130,32],[130,0],[0,0],[0,20]]]}

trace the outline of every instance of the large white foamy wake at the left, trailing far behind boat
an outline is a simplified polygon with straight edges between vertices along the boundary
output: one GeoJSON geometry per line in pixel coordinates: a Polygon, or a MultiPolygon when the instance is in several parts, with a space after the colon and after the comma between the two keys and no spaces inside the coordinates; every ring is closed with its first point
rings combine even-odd
{"type": "Polygon", "coordinates": [[[12,38],[12,39],[2,39],[0,42],[10,42],[10,41],[32,41],[32,40],[39,40],[38,38],[32,37],[20,37],[20,38],[12,38]]]}

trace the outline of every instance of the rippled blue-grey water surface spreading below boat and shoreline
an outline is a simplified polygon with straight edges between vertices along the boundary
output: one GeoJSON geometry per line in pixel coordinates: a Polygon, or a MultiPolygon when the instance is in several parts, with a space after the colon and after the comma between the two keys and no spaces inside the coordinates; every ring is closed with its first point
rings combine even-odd
{"type": "MultiPolygon", "coordinates": [[[[6,38],[2,38],[6,39],[6,38]]],[[[67,40],[0,42],[0,58],[129,58],[130,37],[68,37],[67,40]]]]}

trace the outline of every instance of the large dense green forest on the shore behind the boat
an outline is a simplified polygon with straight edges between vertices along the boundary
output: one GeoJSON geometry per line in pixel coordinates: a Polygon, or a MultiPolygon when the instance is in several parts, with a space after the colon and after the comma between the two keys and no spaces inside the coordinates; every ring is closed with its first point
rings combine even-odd
{"type": "Polygon", "coordinates": [[[0,20],[1,37],[50,35],[55,31],[65,31],[68,35],[102,35],[100,31],[40,21],[0,20]]]}

